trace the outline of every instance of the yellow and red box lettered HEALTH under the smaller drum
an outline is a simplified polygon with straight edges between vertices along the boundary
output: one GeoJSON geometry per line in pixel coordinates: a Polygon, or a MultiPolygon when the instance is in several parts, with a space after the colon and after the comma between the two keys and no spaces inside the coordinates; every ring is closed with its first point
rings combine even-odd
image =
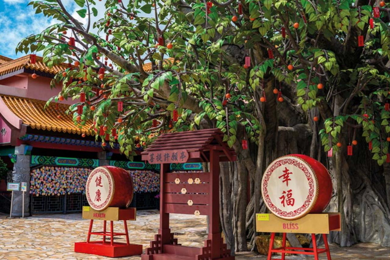
{"type": "Polygon", "coordinates": [[[119,220],[136,220],[137,218],[137,209],[136,208],[127,208],[120,209],[115,207],[109,207],[105,210],[98,211],[94,210],[91,207],[83,207],[83,218],[84,219],[97,219],[97,220],[109,220],[109,221],[119,221],[119,220]]]}

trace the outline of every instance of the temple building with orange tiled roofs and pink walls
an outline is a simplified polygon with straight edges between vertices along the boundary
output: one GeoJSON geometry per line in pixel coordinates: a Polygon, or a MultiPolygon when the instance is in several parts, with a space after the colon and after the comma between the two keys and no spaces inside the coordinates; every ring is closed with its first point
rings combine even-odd
{"type": "MultiPolygon", "coordinates": [[[[118,144],[103,148],[89,132],[92,122],[79,128],[72,115],[64,113],[73,101],[53,102],[45,109],[46,102],[60,91],[60,87],[50,87],[51,79],[68,66],[49,68],[42,57],[34,55],[17,59],[0,55],[0,156],[12,170],[8,181],[27,183],[25,215],[81,211],[87,205],[84,186],[88,173],[104,165],[131,173],[136,191],[133,206],[157,207],[157,165],[142,162],[141,156],[128,161],[120,154],[118,144]],[[35,60],[31,62],[31,58],[35,60]]],[[[150,71],[151,65],[146,64],[144,69],[150,71]]],[[[173,167],[197,170],[201,166],[173,167]]],[[[0,210],[8,213],[6,181],[0,185],[0,210]]],[[[21,191],[14,192],[12,216],[22,215],[22,197],[21,191]]]]}

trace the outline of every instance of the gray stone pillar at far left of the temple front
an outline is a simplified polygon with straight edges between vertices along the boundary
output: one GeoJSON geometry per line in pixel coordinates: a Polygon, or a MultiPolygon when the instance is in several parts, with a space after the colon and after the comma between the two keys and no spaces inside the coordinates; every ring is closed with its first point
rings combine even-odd
{"type": "MultiPolygon", "coordinates": [[[[26,182],[27,191],[24,192],[24,217],[30,215],[30,162],[31,155],[24,155],[25,145],[15,147],[16,163],[14,164],[14,170],[12,172],[13,182],[26,182]]],[[[23,203],[23,192],[14,191],[13,205],[11,217],[22,216],[22,203],[23,203]]]]}

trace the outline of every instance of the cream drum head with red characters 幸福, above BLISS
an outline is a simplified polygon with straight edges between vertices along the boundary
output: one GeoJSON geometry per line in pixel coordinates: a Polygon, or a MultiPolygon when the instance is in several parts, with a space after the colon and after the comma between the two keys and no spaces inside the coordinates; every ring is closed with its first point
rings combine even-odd
{"type": "Polygon", "coordinates": [[[318,182],[310,165],[296,156],[274,160],[262,180],[263,200],[283,219],[298,219],[310,212],[318,196],[318,182]]]}

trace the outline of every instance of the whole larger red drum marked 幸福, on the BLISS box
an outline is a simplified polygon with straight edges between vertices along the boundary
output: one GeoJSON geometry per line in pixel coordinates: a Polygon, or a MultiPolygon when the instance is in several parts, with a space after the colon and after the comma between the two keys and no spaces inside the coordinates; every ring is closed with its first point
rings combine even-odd
{"type": "Polygon", "coordinates": [[[302,154],[274,160],[263,175],[263,200],[283,219],[298,219],[321,213],[332,197],[332,180],[319,161],[302,154]]]}

